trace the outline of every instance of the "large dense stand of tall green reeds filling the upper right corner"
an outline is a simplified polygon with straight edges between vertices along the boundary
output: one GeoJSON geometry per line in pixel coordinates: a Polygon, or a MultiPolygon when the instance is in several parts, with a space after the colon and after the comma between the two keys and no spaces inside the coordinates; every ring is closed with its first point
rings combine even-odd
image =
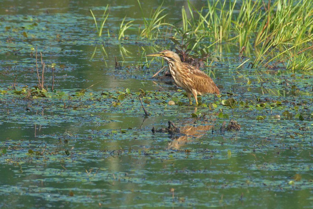
{"type": "Polygon", "coordinates": [[[264,4],[262,0],[243,0],[239,13],[234,14],[236,4],[236,0],[213,0],[198,10],[188,1],[190,15],[188,18],[182,7],[180,28],[195,35],[204,34],[218,43],[238,43],[239,57],[254,48],[252,68],[279,63],[288,69],[311,69],[309,50],[304,49],[312,45],[312,1],[269,0],[264,4]]]}

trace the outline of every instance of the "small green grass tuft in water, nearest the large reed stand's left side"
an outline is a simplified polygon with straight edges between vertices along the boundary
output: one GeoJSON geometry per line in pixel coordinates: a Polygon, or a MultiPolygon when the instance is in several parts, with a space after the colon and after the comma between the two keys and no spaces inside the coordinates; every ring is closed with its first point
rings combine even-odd
{"type": "MultiPolygon", "coordinates": [[[[141,37],[145,37],[145,38],[151,40],[152,37],[155,35],[156,31],[160,32],[160,27],[162,27],[163,25],[171,25],[168,23],[162,23],[162,20],[167,16],[167,14],[164,14],[161,16],[161,13],[165,10],[165,8],[162,9],[163,2],[161,3],[161,5],[158,8],[156,8],[156,10],[154,12],[153,12],[153,9],[151,9],[149,18],[145,18],[143,10],[141,8],[141,4],[140,4],[139,0],[137,0],[137,1],[139,4],[139,8],[141,10],[143,23],[145,25],[145,28],[141,31],[141,34],[140,34],[141,37]]],[[[156,37],[157,37],[157,35],[158,34],[156,34],[156,37]]]]}

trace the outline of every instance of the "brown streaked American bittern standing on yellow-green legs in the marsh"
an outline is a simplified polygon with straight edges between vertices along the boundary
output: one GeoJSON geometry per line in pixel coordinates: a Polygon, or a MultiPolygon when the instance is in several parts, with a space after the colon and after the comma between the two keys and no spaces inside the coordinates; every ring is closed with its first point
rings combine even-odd
{"type": "Polygon", "coordinates": [[[192,105],[191,94],[195,97],[196,105],[198,105],[197,95],[219,94],[219,89],[210,76],[194,66],[182,62],[176,53],[164,50],[146,56],[162,57],[167,61],[168,69],[176,85],[186,91],[190,105],[192,105]]]}

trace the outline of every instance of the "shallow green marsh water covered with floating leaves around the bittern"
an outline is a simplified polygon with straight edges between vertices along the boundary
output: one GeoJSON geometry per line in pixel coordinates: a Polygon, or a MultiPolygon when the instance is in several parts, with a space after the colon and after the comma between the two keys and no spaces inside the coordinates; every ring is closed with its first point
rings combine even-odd
{"type": "MultiPolygon", "coordinates": [[[[142,6],[148,11],[160,3],[142,6]]],[[[174,3],[185,2],[164,6],[174,3]]],[[[212,48],[214,67],[203,70],[223,86],[222,97],[203,96],[203,105],[193,107],[183,91],[151,79],[161,60],[135,67],[145,62],[143,51],[168,44],[137,39],[136,1],[2,1],[1,8],[1,208],[313,206],[312,72],[249,69],[248,63],[236,69],[238,46],[219,44],[212,48]],[[99,38],[89,9],[99,18],[107,3],[111,37],[99,38]],[[134,26],[128,40],[117,41],[112,34],[125,14],[134,26]],[[15,75],[16,91],[36,85],[36,44],[46,65],[56,64],[51,98],[8,90],[15,75]],[[85,94],[75,93],[81,89],[85,94]],[[228,97],[237,103],[223,105],[228,97]],[[166,105],[169,100],[177,105],[166,105]],[[219,131],[229,119],[241,125],[238,132],[219,131]],[[182,134],[151,132],[169,120],[182,134]]],[[[166,13],[175,22],[180,10],[172,8],[166,13]]],[[[48,88],[51,80],[48,66],[48,88]]]]}

